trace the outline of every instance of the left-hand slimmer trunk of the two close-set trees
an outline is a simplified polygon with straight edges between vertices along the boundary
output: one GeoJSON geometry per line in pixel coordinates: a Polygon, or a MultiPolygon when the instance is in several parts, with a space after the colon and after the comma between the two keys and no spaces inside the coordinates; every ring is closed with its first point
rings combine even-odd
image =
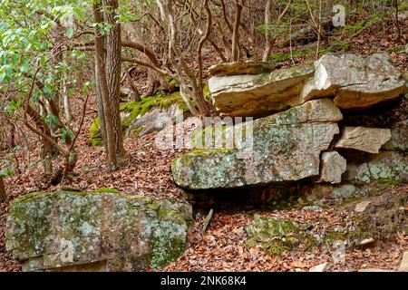
{"type": "MultiPolygon", "coordinates": [[[[93,17],[95,23],[102,23],[101,6],[98,4],[92,5],[93,17]]],[[[95,26],[95,68],[96,68],[96,80],[99,82],[99,92],[101,94],[104,127],[106,131],[106,155],[108,156],[108,164],[110,169],[114,170],[117,166],[116,160],[116,147],[115,147],[115,135],[113,132],[112,124],[112,112],[109,99],[109,88],[106,80],[105,63],[104,63],[104,48],[102,35],[100,34],[98,26],[95,26]]],[[[102,125],[102,122],[101,122],[102,125]]]]}

